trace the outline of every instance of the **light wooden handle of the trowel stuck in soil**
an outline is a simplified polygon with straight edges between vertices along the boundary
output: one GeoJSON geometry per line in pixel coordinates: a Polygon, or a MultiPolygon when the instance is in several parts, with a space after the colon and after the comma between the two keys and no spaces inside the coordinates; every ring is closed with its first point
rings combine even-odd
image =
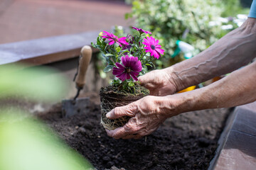
{"type": "Polygon", "coordinates": [[[78,66],[78,76],[75,78],[75,86],[78,89],[82,89],[85,85],[85,74],[86,70],[90,64],[90,60],[92,58],[92,48],[88,45],[82,47],[80,58],[79,58],[79,66],[78,66]]]}

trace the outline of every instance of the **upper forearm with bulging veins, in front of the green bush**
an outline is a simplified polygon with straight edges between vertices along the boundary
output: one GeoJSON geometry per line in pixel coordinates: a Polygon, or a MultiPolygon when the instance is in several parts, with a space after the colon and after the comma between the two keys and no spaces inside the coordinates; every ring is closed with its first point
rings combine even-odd
{"type": "Polygon", "coordinates": [[[166,69],[177,91],[227,74],[256,57],[256,18],[248,18],[240,27],[225,35],[190,60],[166,69]]]}

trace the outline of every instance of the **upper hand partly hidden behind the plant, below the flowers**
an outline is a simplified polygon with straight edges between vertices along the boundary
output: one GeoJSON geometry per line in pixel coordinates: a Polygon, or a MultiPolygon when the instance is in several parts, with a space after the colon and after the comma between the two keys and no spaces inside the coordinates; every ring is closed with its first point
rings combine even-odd
{"type": "Polygon", "coordinates": [[[142,86],[149,89],[152,96],[167,96],[176,92],[176,84],[165,69],[154,70],[139,77],[142,86]]]}

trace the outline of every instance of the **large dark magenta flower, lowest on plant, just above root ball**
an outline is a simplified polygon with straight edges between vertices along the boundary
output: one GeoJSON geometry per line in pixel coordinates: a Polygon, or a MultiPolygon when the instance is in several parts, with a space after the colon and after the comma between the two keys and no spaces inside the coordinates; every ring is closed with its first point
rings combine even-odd
{"type": "Polygon", "coordinates": [[[138,57],[129,57],[126,55],[121,58],[121,61],[124,66],[116,62],[117,67],[113,68],[112,73],[121,81],[131,79],[131,77],[135,81],[138,81],[137,76],[142,71],[142,62],[138,60],[138,57]]]}

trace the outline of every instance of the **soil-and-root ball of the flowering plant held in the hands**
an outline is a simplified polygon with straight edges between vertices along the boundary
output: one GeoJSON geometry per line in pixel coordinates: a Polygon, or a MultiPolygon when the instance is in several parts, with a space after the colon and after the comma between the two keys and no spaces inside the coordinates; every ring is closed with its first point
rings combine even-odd
{"type": "Polygon", "coordinates": [[[129,103],[139,100],[144,96],[149,95],[149,90],[143,86],[136,84],[135,91],[127,93],[127,91],[119,89],[117,86],[107,86],[100,89],[100,108],[101,121],[100,123],[108,130],[114,130],[122,127],[129,121],[129,116],[123,116],[117,119],[108,119],[106,114],[113,108],[126,106],[129,103]]]}

